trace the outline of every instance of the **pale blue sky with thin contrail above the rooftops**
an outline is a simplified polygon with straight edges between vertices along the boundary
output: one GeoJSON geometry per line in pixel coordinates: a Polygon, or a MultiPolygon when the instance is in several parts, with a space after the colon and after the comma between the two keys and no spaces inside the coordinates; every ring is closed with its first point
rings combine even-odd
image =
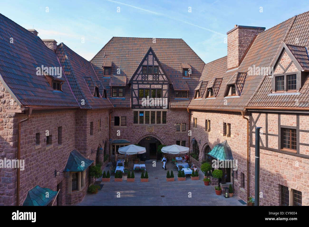
{"type": "Polygon", "coordinates": [[[235,24],[268,29],[309,11],[308,0],[72,2],[0,0],[0,13],[36,29],[41,39],[65,43],[87,60],[113,36],[125,36],[182,38],[207,63],[226,55],[226,32],[235,24]]]}

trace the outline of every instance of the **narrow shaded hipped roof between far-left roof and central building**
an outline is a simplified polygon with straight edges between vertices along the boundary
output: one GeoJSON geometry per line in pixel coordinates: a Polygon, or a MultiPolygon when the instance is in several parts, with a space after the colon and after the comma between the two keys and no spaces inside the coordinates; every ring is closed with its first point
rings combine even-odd
{"type": "Polygon", "coordinates": [[[82,108],[111,108],[112,104],[107,98],[102,98],[106,89],[95,74],[89,61],[75,53],[65,44],[57,46],[56,54],[68,78],[72,91],[82,108]],[[95,87],[99,87],[100,97],[94,96],[95,87]],[[82,105],[85,100],[85,105],[82,105]]]}

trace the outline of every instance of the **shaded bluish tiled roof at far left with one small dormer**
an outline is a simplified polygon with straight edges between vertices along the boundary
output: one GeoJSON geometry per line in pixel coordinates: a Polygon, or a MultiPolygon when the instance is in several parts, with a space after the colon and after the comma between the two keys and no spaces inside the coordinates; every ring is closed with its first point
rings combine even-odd
{"type": "Polygon", "coordinates": [[[42,65],[62,70],[56,54],[38,36],[0,14],[0,78],[17,102],[25,106],[79,107],[66,76],[61,75],[62,92],[53,90],[44,75],[37,75],[36,68],[42,65]]]}

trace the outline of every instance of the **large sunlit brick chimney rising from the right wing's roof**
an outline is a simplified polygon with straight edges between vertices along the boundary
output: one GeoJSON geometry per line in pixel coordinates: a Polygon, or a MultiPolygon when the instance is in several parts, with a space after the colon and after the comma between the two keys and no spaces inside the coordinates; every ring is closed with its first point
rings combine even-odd
{"type": "Polygon", "coordinates": [[[265,27],[235,25],[227,34],[227,69],[237,68],[254,37],[265,27]]]}

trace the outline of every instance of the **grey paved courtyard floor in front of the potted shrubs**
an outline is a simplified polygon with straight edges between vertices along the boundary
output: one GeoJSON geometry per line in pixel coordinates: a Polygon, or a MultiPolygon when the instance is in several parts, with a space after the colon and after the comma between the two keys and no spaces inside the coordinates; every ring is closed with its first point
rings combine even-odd
{"type": "MultiPolygon", "coordinates": [[[[111,163],[104,170],[109,170],[111,163]]],[[[224,198],[216,195],[214,186],[205,186],[203,173],[200,180],[191,180],[187,175],[185,181],[177,180],[178,171],[171,169],[171,162],[167,163],[167,170],[173,170],[175,181],[166,182],[167,170],[162,169],[162,163],[157,162],[153,167],[152,161],[146,161],[149,182],[140,182],[141,171],[134,172],[135,182],[114,182],[114,174],[110,182],[104,184],[97,194],[87,194],[78,206],[241,206],[237,196],[224,198]],[[156,179],[157,178],[157,179],[156,179]],[[191,193],[191,198],[189,197],[191,193]],[[118,197],[117,197],[118,195],[118,197]],[[120,197],[119,197],[120,195],[120,197]]],[[[132,171],[131,171],[132,172],[132,171]]],[[[101,181],[101,179],[99,179],[101,181]]],[[[223,194],[223,193],[222,193],[223,194]]]]}

